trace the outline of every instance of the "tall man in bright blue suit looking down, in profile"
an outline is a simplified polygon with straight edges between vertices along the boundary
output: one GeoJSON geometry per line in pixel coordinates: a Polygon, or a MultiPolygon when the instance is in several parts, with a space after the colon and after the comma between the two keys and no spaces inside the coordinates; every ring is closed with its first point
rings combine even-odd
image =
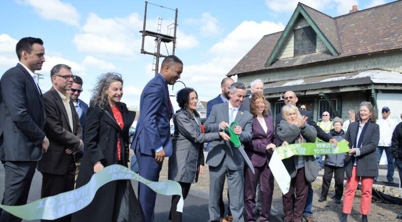
{"type": "MultiPolygon", "coordinates": [[[[172,154],[169,121],[173,116],[167,84],[173,85],[183,71],[183,62],[174,55],[167,56],[156,74],[141,93],[140,117],[131,149],[137,156],[140,176],[158,181],[163,159],[172,154]]],[[[138,184],[143,221],[153,221],[156,193],[138,184]]]]}

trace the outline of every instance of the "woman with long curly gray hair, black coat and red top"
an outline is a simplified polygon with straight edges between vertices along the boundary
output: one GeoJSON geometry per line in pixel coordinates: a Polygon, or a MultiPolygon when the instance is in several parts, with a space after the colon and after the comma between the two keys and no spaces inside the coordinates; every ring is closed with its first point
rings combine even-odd
{"type": "MultiPolygon", "coordinates": [[[[129,128],[135,112],[130,112],[123,95],[120,74],[106,73],[98,78],[86,115],[85,153],[77,187],[112,164],[128,166],[129,128]]],[[[142,221],[141,209],[130,180],[116,180],[100,187],[92,202],[76,212],[72,221],[142,221]]]]}

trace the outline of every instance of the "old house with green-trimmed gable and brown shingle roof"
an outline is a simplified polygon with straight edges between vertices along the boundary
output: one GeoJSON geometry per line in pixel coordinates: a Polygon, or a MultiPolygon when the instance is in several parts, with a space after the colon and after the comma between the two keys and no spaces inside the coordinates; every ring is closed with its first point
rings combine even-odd
{"type": "MultiPolygon", "coordinates": [[[[299,3],[282,32],[262,39],[230,70],[238,81],[264,82],[273,112],[292,90],[314,119],[347,119],[371,101],[402,113],[402,1],[331,17],[299,3]]],[[[379,110],[381,112],[381,110],[379,110]]],[[[377,111],[377,114],[378,111],[377,111]]]]}

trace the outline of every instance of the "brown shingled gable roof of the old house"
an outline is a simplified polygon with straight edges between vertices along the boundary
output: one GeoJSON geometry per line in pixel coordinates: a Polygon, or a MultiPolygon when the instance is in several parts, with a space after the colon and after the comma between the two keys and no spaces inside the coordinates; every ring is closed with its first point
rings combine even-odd
{"type": "Polygon", "coordinates": [[[348,56],[402,49],[402,0],[332,18],[299,3],[282,32],[265,35],[229,71],[228,76],[306,65],[348,56]],[[276,60],[297,16],[302,15],[326,44],[336,51],[276,60]],[[287,33],[285,33],[287,31],[287,33]],[[327,40],[327,42],[325,42],[327,40]],[[276,60],[276,61],[275,61],[276,60]]]}

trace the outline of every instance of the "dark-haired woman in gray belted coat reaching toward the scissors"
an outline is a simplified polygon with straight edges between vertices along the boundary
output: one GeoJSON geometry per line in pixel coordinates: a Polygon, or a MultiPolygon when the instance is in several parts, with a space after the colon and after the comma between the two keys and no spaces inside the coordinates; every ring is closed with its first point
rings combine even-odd
{"type": "MultiPolygon", "coordinates": [[[[229,136],[223,132],[203,134],[199,114],[195,110],[198,96],[194,89],[181,89],[177,92],[176,100],[181,109],[173,117],[173,154],[169,157],[167,178],[180,184],[185,199],[191,183],[197,182],[198,174],[204,172],[204,143],[220,138],[229,140],[229,136]]],[[[171,221],[181,221],[181,212],[176,211],[179,199],[179,195],[172,196],[171,221]]]]}

